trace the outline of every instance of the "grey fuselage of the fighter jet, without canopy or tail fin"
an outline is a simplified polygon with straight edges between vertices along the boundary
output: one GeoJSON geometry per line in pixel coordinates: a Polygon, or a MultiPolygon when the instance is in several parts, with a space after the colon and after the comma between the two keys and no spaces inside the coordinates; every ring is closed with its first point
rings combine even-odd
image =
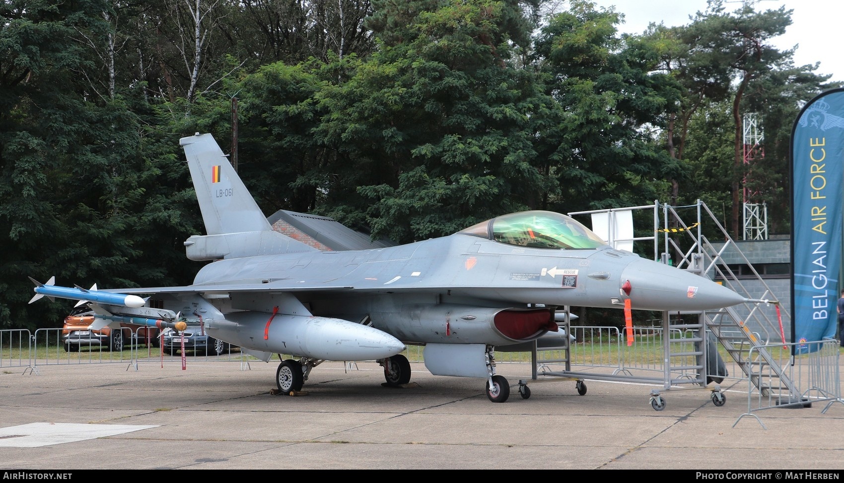
{"type": "MultiPolygon", "coordinates": [[[[609,246],[517,247],[464,234],[362,251],[223,259],[203,267],[194,286],[260,284],[264,290],[292,292],[313,315],[365,321],[404,341],[491,343],[455,339],[442,322],[448,318],[457,324],[454,319],[465,320],[483,307],[624,308],[625,281],[633,286],[629,298],[636,309],[694,309],[695,299],[685,290],[692,285],[715,290],[716,296],[736,296],[696,274],[609,246]]],[[[232,299],[236,307],[238,296],[232,299]]],[[[702,294],[696,301],[712,303],[702,294]]]]}

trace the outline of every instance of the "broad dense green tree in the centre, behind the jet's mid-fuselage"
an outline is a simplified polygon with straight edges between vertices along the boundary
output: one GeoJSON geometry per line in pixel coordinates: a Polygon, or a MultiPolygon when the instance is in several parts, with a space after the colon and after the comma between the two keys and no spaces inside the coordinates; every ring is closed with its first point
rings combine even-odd
{"type": "Polygon", "coordinates": [[[400,37],[320,96],[319,141],[354,159],[334,165],[326,212],[365,209],[373,236],[408,242],[536,206],[554,189],[533,147],[551,100],[507,63],[529,24],[516,3],[391,6],[373,21],[398,15],[400,37]]]}

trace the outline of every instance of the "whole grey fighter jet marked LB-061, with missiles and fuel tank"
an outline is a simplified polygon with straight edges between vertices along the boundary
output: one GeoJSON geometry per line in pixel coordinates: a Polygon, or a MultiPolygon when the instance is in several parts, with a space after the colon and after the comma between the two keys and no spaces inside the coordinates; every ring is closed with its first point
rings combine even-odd
{"type": "Polygon", "coordinates": [[[280,393],[299,392],[323,361],[375,360],[387,384],[406,384],[411,367],[401,353],[422,345],[432,374],[483,378],[487,397],[500,403],[510,385],[495,374],[495,347],[557,331],[560,307],[623,309],[630,301],[632,309],[702,311],[748,301],[609,247],[549,211],[502,214],[407,245],[322,252],[273,231],[210,134],[180,144],[207,231],[187,239],[187,257],[209,263],[192,285],[104,290],[143,295],[145,307],[91,301],[90,291],[68,298],[86,296],[116,316],[182,314],[262,361],[278,355],[280,393]]]}

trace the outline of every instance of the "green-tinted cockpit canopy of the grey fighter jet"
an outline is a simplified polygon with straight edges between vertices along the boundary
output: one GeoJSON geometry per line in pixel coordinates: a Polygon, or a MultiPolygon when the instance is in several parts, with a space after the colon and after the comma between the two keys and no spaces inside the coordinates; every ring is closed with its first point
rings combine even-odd
{"type": "Polygon", "coordinates": [[[571,216],[553,211],[504,214],[457,233],[520,247],[594,249],[607,245],[571,216]]]}

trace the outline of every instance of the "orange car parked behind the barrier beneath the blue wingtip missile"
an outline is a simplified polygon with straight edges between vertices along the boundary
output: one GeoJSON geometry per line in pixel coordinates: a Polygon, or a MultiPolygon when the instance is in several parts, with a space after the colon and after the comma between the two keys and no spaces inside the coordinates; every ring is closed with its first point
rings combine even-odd
{"type": "Polygon", "coordinates": [[[90,330],[88,327],[94,323],[94,312],[88,307],[79,307],[64,318],[62,328],[62,344],[67,352],[78,352],[79,347],[103,346],[109,350],[119,351],[128,344],[149,344],[153,347],[160,345],[159,328],[146,327],[133,323],[121,323],[121,330],[112,330],[104,327],[100,330],[90,330]],[[149,335],[149,339],[147,339],[149,335]]]}

